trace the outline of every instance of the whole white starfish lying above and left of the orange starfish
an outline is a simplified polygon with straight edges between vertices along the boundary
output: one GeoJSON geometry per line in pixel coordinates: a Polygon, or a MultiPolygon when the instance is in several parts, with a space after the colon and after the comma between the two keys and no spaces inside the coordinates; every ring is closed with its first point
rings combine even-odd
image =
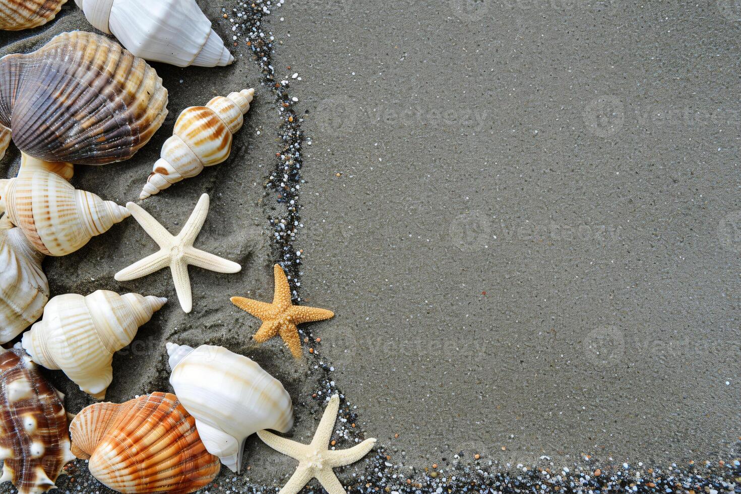
{"type": "Polygon", "coordinates": [[[203,222],[206,221],[208,214],[208,194],[203,194],[196,204],[196,209],[190,213],[190,218],[178,236],[173,236],[165,230],[159,222],[142,207],[129,202],[126,208],[130,211],[131,216],[142,225],[147,235],[152,237],[159,245],[159,251],[151,256],[136,261],[129,267],[126,267],[116,273],[116,280],[128,281],[136,278],[142,278],[163,267],[170,266],[173,273],[173,283],[175,291],[178,294],[180,307],[189,313],[193,308],[193,294],[190,291],[190,277],[187,274],[188,264],[202,267],[205,270],[216,271],[216,273],[236,273],[242,269],[242,266],[236,262],[228,261],[225,258],[214,256],[203,250],[193,247],[193,242],[201,232],[203,222]]]}

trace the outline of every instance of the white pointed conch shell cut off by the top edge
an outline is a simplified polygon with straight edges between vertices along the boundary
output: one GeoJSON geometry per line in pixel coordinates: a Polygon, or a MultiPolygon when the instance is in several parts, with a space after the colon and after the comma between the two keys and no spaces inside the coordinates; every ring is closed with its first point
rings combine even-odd
{"type": "Polygon", "coordinates": [[[98,30],[136,56],[178,67],[228,65],[234,57],[195,0],[75,0],[98,30]]]}

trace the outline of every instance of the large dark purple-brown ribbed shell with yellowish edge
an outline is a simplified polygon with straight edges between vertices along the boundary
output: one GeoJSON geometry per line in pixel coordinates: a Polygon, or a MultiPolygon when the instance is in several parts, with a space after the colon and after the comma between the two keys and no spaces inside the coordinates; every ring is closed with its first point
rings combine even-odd
{"type": "Polygon", "coordinates": [[[162,125],[166,107],[155,70],[104,36],[62,33],[0,59],[0,125],[23,153],[45,161],[130,158],[162,125]]]}

